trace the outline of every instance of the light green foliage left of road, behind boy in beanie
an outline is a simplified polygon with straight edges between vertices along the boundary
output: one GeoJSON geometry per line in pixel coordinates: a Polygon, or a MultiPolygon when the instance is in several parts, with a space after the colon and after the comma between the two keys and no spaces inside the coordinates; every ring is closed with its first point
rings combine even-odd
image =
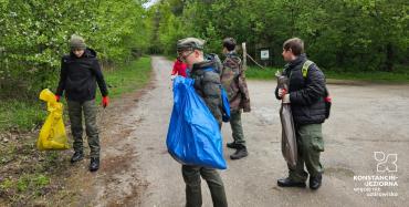
{"type": "Polygon", "coordinates": [[[151,31],[143,3],[0,0],[0,97],[33,99],[44,87],[54,89],[73,33],[83,35],[102,62],[140,55],[151,31]]]}

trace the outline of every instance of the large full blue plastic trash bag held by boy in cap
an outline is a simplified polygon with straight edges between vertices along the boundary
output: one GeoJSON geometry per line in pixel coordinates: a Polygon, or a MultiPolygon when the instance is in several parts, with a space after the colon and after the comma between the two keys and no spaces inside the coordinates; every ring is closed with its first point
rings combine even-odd
{"type": "Polygon", "coordinates": [[[193,89],[195,80],[174,80],[174,110],[166,145],[183,165],[226,169],[219,124],[193,89]]]}

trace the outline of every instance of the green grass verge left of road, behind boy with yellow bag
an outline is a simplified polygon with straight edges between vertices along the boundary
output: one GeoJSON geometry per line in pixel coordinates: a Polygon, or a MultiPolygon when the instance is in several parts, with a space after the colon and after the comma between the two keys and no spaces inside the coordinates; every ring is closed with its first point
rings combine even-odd
{"type": "MultiPolygon", "coordinates": [[[[108,84],[108,96],[109,99],[116,99],[123,93],[140,89],[149,81],[150,58],[143,56],[137,61],[119,65],[115,70],[104,73],[105,81],[108,84]]],[[[101,95],[96,95],[96,101],[98,104],[101,103],[101,95]]],[[[64,101],[63,104],[66,105],[64,101]]],[[[10,130],[30,131],[40,126],[46,114],[46,106],[40,100],[1,101],[0,133],[10,130]]]]}

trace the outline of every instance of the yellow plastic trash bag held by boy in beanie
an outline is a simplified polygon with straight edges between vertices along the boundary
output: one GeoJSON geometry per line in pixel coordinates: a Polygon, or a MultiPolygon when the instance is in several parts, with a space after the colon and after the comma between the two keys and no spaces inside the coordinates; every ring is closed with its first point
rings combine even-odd
{"type": "Polygon", "coordinates": [[[56,102],[55,95],[49,89],[41,91],[40,100],[46,102],[50,114],[41,127],[36,147],[40,151],[70,148],[63,122],[63,104],[56,102]]]}

